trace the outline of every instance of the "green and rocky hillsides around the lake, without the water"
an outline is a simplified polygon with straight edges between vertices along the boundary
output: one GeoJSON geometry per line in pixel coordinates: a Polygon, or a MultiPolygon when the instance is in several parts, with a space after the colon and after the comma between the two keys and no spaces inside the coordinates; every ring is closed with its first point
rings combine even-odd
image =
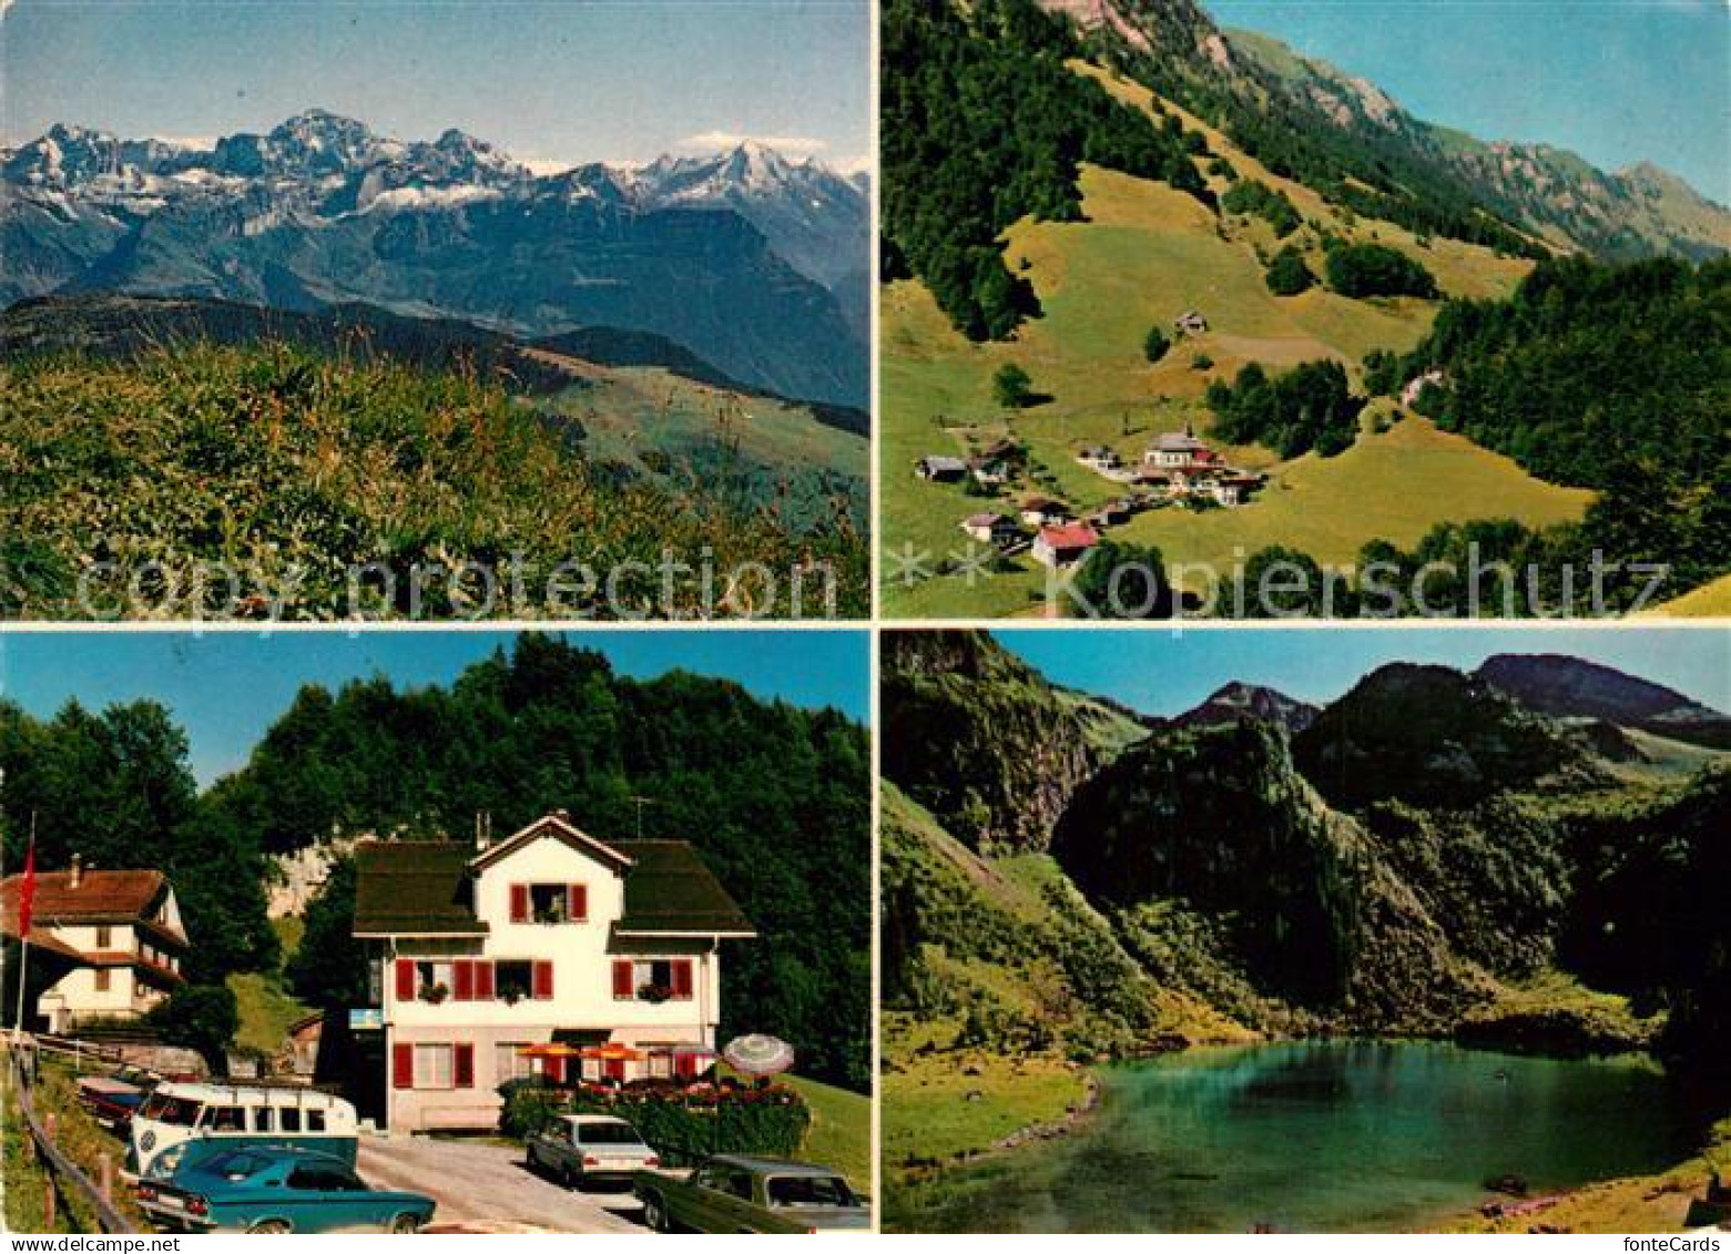
{"type": "Polygon", "coordinates": [[[1715,1065],[1726,754],[1390,664],[1291,737],[1120,726],[1042,759],[1077,701],[988,637],[886,637],[890,1226],[1059,1135],[1078,1064],[1380,1034],[1715,1065]]]}

